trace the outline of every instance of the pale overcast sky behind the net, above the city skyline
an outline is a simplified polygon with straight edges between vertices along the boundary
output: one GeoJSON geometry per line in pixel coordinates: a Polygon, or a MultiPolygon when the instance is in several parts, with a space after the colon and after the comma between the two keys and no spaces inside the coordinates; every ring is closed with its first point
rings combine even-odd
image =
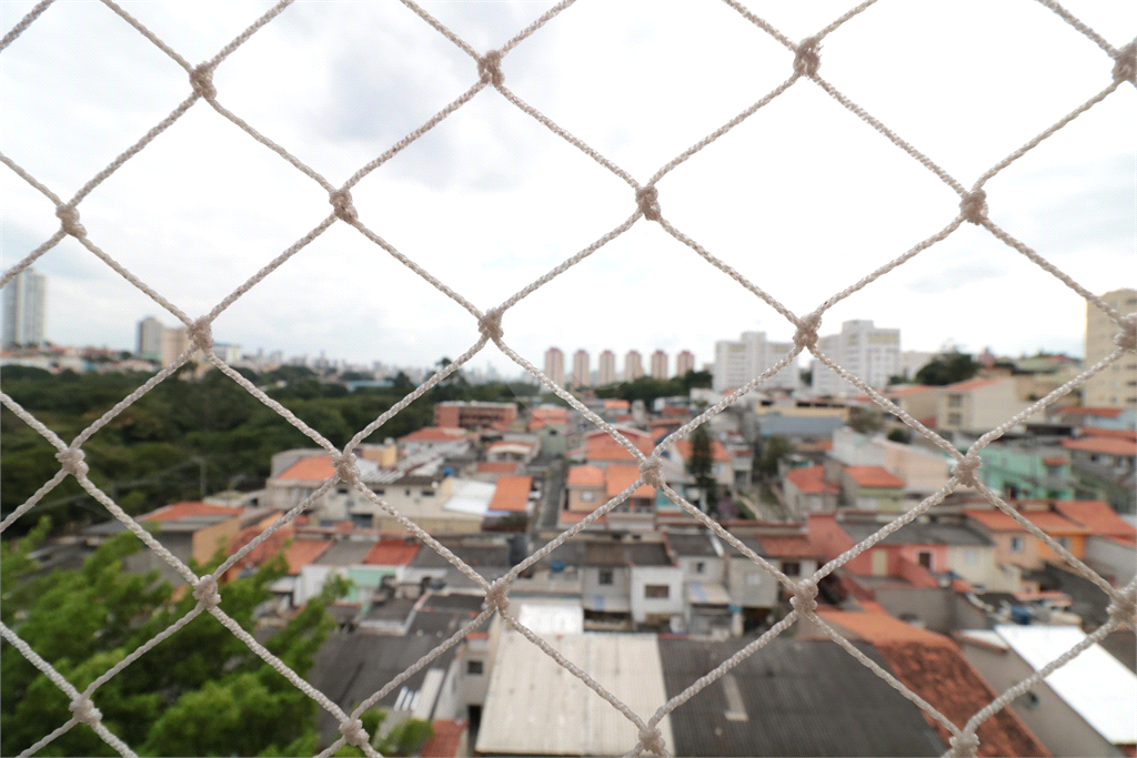
{"type": "MultiPolygon", "coordinates": [[[[8,30],[32,0],[0,0],[8,30]]],[[[267,2],[122,5],[205,60],[267,2]]],[[[474,48],[501,45],[553,3],[424,2],[474,48]]],[[[1069,0],[1115,47],[1137,3],[1069,0]]],[[[841,2],[749,7],[791,39],[841,2]]],[[[762,98],[792,56],[713,0],[580,0],[505,59],[506,84],[637,180],[762,98]]],[[[821,69],[970,186],[1102,90],[1112,60],[1030,0],[881,0],[824,40],[821,69]]],[[[333,184],[478,78],[473,60],[395,0],[299,0],[217,70],[218,100],[333,184]]],[[[67,198],[190,92],[185,73],[109,9],[59,0],[0,55],[0,150],[67,198]]],[[[1137,285],[1137,90],[1120,91],[987,185],[990,216],[1090,290],[1137,285]]],[[[659,182],[664,216],[804,314],[944,227],[958,198],[810,81],[659,182]]],[[[487,309],[628,218],[631,189],[487,89],[354,191],[363,222],[487,309]]],[[[0,167],[11,266],[58,227],[51,203],[0,167]]],[[[91,239],[191,316],[208,311],[330,211],[326,193],[205,101],[80,208],[91,239]]],[[[133,348],[173,316],[68,239],[49,276],[48,338],[133,348]]],[[[902,348],[952,341],[1081,355],[1086,305],[970,224],[835,307],[899,327],[902,348]]],[[[571,352],[689,349],[746,330],[789,339],[769,306],[640,220],[506,314],[540,365],[571,352]]],[[[352,361],[429,365],[478,339],[474,319],[338,223],[225,311],[219,342],[352,361]]],[[[594,357],[595,360],[595,357],[594,357]]],[[[515,367],[492,345],[472,365],[515,367]]]]}

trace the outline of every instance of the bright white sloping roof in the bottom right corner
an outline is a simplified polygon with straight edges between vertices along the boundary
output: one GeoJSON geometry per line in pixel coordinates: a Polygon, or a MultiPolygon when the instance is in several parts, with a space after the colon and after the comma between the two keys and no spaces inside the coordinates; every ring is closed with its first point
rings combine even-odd
{"type": "MultiPolygon", "coordinates": [[[[1036,672],[1086,639],[1076,626],[998,625],[995,631],[1036,672]]],[[[1086,648],[1044,681],[1113,744],[1137,742],[1137,674],[1102,645],[1086,648]]]]}

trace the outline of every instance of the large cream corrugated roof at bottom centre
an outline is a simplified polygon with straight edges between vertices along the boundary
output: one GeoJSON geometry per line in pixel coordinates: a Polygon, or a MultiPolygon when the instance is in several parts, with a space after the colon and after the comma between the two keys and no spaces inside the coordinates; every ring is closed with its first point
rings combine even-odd
{"type": "MultiPolygon", "coordinates": [[[[553,648],[644,718],[666,702],[652,634],[547,635],[553,648]]],[[[659,723],[674,745],[671,717],[659,723]]],[[[622,756],[639,740],[634,724],[516,632],[498,643],[476,749],[483,753],[622,756]]]]}

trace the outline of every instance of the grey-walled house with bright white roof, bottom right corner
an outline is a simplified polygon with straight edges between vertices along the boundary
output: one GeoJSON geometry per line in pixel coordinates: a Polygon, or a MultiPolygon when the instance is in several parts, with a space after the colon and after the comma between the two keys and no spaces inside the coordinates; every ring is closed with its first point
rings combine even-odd
{"type": "MultiPolygon", "coordinates": [[[[1077,626],[997,625],[956,635],[996,690],[1018,684],[1086,639],[1077,626]]],[[[1137,675],[1092,644],[1011,701],[1055,756],[1131,756],[1137,747],[1137,675]]]]}

